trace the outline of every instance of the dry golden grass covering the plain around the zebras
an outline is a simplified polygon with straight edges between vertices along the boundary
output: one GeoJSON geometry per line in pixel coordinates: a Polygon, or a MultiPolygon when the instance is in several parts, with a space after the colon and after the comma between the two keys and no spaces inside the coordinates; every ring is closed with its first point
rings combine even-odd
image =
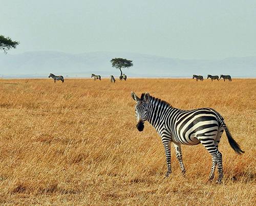
{"type": "Polygon", "coordinates": [[[253,205],[255,91],[256,79],[0,80],[0,203],[253,205]],[[245,154],[223,135],[225,176],[216,185],[202,145],[182,147],[185,177],[172,147],[173,173],[164,178],[161,140],[148,123],[136,129],[131,91],[215,108],[245,154]]]}

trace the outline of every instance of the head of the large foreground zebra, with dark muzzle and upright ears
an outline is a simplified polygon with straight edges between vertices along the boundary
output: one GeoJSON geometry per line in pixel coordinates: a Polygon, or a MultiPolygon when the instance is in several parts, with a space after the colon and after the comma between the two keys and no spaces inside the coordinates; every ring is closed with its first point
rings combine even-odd
{"type": "Polygon", "coordinates": [[[148,101],[150,100],[150,94],[141,94],[141,97],[138,98],[136,94],[132,91],[131,96],[136,101],[135,105],[135,116],[137,119],[137,129],[143,131],[144,122],[147,120],[148,115],[148,101]]]}

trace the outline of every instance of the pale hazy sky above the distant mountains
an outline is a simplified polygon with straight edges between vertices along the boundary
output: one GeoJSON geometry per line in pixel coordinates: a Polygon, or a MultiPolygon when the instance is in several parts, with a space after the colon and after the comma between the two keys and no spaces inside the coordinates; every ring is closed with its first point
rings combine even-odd
{"type": "Polygon", "coordinates": [[[256,1],[0,0],[10,54],[136,52],[181,59],[256,56],[256,1]]]}

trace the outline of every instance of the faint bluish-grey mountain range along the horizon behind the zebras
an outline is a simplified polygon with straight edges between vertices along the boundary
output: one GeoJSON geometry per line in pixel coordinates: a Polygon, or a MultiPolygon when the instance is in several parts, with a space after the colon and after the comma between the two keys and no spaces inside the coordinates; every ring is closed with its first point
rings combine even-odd
{"type": "Polygon", "coordinates": [[[133,60],[134,66],[123,69],[128,77],[191,77],[193,74],[230,74],[233,77],[256,77],[256,57],[233,57],[221,60],[184,60],[138,53],[92,52],[68,54],[53,51],[0,54],[0,77],[102,77],[120,72],[111,66],[112,58],[133,60]]]}

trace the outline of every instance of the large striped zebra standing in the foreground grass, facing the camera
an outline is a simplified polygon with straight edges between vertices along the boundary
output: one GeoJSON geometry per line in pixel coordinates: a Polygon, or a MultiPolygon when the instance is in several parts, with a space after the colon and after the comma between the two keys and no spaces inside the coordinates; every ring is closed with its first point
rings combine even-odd
{"type": "Polygon", "coordinates": [[[143,131],[144,122],[148,121],[155,127],[161,137],[166,155],[166,177],[172,172],[170,166],[170,142],[174,144],[176,157],[183,174],[185,173],[185,167],[182,162],[181,144],[197,145],[202,143],[212,157],[210,180],[214,178],[214,171],[218,165],[219,175],[217,182],[221,182],[223,176],[222,154],[218,150],[218,145],[224,130],[232,149],[238,154],[244,153],[238,143],[233,140],[224,123],[224,119],[214,109],[182,110],[174,108],[169,103],[152,97],[148,93],[143,93],[139,98],[132,92],[131,96],[136,101],[137,129],[143,131]]]}

